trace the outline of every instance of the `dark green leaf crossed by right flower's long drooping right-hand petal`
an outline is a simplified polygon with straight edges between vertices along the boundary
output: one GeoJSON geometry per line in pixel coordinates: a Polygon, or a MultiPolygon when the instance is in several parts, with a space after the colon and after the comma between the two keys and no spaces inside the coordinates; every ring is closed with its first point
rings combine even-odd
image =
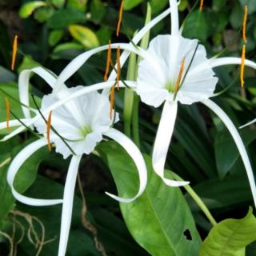
{"type": "MultiPolygon", "coordinates": [[[[246,146],[256,138],[256,131],[243,129],[240,132],[246,146]]],[[[215,158],[218,169],[218,177],[224,178],[234,163],[238,160],[240,154],[234,143],[234,139],[225,129],[217,133],[214,142],[215,158]]]]}

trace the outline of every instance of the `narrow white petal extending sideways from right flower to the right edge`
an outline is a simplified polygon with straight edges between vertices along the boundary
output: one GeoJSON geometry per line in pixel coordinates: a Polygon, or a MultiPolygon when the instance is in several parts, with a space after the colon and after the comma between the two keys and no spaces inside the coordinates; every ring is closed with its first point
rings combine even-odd
{"type": "MultiPolygon", "coordinates": [[[[211,68],[218,66],[226,66],[226,65],[241,65],[241,58],[236,57],[224,57],[224,58],[212,58],[210,59],[211,68]]],[[[256,70],[256,63],[252,62],[248,59],[245,61],[245,65],[251,67],[256,70]]]]}

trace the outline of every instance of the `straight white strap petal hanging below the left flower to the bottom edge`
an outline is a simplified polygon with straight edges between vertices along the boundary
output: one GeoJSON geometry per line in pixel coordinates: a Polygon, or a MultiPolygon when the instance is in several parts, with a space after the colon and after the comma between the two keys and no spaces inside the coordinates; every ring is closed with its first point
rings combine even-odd
{"type": "Polygon", "coordinates": [[[61,234],[58,246],[58,256],[65,256],[66,246],[70,234],[70,224],[74,201],[74,187],[78,175],[78,166],[82,155],[73,156],[66,176],[66,184],[63,195],[61,234]]]}

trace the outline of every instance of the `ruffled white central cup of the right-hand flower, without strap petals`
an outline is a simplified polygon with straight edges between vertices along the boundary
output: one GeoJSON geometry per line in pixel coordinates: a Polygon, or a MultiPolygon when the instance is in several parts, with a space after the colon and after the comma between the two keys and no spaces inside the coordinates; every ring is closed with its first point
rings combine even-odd
{"type": "Polygon", "coordinates": [[[144,59],[138,67],[136,92],[142,102],[154,107],[165,101],[192,104],[214,95],[218,78],[214,77],[214,71],[207,63],[205,47],[198,46],[198,40],[182,38],[179,34],[158,35],[150,42],[147,52],[154,62],[144,59]],[[182,86],[174,100],[183,61],[185,65],[181,78],[184,78],[185,70],[190,68],[183,82],[181,79],[182,86]],[[204,66],[203,62],[206,63],[204,66]]]}

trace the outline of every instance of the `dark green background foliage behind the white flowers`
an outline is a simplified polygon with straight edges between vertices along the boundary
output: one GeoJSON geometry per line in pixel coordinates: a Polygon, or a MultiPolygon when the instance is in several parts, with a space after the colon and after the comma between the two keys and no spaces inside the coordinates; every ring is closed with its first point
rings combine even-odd
{"type": "MultiPolygon", "coordinates": [[[[153,15],[159,14],[168,6],[167,0],[150,0],[149,2],[153,15]]],[[[182,20],[190,13],[194,2],[182,0],[179,6],[182,20]]],[[[6,94],[3,94],[2,90],[18,98],[17,80],[21,70],[42,65],[59,74],[75,56],[95,46],[106,44],[109,38],[112,42],[120,40],[127,42],[134,32],[143,26],[146,3],[143,0],[125,1],[122,35],[117,39],[115,30],[118,1],[1,1],[0,120],[3,122],[6,119],[4,101],[6,94]],[[10,60],[14,34],[19,36],[18,65],[17,69],[11,72],[10,60]]],[[[249,7],[246,57],[255,61],[255,1],[205,1],[202,13],[198,11],[197,6],[190,14],[183,35],[187,38],[199,38],[206,46],[209,57],[223,50],[225,50],[223,56],[240,56],[242,37],[239,30],[242,26],[245,4],[249,7]]],[[[167,33],[170,33],[169,18],[155,26],[150,37],[167,33]]],[[[102,81],[105,60],[106,53],[94,56],[70,78],[68,84],[89,86],[94,82],[102,81]]],[[[126,74],[126,66],[122,72],[126,74]]],[[[217,91],[225,89],[232,83],[230,90],[216,98],[216,102],[229,114],[234,124],[241,126],[254,118],[256,113],[255,71],[246,69],[246,90],[240,90],[237,76],[239,67],[218,68],[215,72],[219,78],[217,91]]],[[[33,84],[31,90],[38,96],[38,101],[42,94],[50,92],[50,88],[36,76],[32,78],[31,83],[33,84]]],[[[122,98],[121,91],[117,94],[116,100],[118,112],[121,114],[122,98]]],[[[22,112],[18,104],[10,100],[10,105],[14,113],[21,117],[22,112]]],[[[218,222],[226,218],[246,216],[241,222],[255,230],[253,229],[255,218],[251,210],[246,215],[249,206],[253,206],[249,183],[230,134],[222,122],[201,105],[180,106],[179,112],[166,167],[183,179],[190,180],[191,186],[218,222]]],[[[160,109],[140,104],[140,143],[148,163],[160,114],[160,109]]],[[[118,129],[123,130],[122,122],[118,123],[118,129]]],[[[6,134],[6,130],[1,130],[1,134],[6,134]]],[[[241,130],[240,134],[246,143],[255,170],[255,126],[241,130]]],[[[13,240],[16,244],[18,243],[18,255],[24,256],[35,255],[38,250],[38,245],[31,243],[26,236],[19,241],[22,232],[25,234],[30,232],[31,216],[35,216],[42,222],[46,230],[46,241],[50,240],[43,246],[41,255],[56,254],[60,226],[60,206],[39,209],[21,205],[14,201],[6,184],[6,170],[9,162],[18,150],[33,139],[31,134],[26,133],[0,144],[0,230],[11,236],[15,226],[13,240]],[[21,212],[27,215],[24,216],[20,214],[21,212]]],[[[201,239],[206,238],[212,226],[190,195],[186,194],[185,190],[164,186],[157,177],[154,177],[153,172],[150,172],[150,186],[146,193],[136,204],[121,205],[120,210],[118,203],[107,198],[102,192],[107,190],[115,193],[117,187],[121,195],[134,194],[135,187],[130,185],[137,184],[133,163],[128,161],[127,165],[123,164],[127,162],[126,154],[118,149],[114,142],[103,143],[99,146],[98,152],[102,158],[97,155],[83,158],[80,176],[89,209],[88,218],[97,228],[98,239],[104,245],[106,253],[122,256],[132,254],[180,256],[188,255],[186,250],[189,250],[190,255],[197,255],[201,239]],[[185,195],[186,200],[182,194],[185,195]],[[140,230],[139,226],[143,228],[140,230]],[[162,248],[162,251],[158,248],[162,248]],[[168,254],[165,254],[166,251],[168,254]]],[[[62,195],[67,166],[68,161],[62,160],[58,154],[42,150],[22,166],[16,186],[20,192],[26,191],[26,194],[33,194],[34,197],[57,198],[58,195],[62,195]]],[[[149,170],[150,168],[149,166],[149,170]]],[[[67,255],[100,255],[101,253],[94,246],[94,235],[81,224],[81,207],[82,202],[78,192],[74,203],[67,255]]],[[[34,222],[34,229],[38,234],[42,234],[40,222],[36,222],[35,219],[34,222]]],[[[235,221],[226,220],[222,222],[222,228],[237,224],[235,221]]],[[[218,229],[211,230],[211,237],[207,238],[208,242],[213,239],[214,232],[217,234],[218,229]]],[[[246,236],[245,233],[242,234],[246,236]]],[[[223,235],[229,236],[229,234],[223,235]]],[[[248,236],[249,238],[245,241],[240,241],[237,245],[238,250],[233,251],[232,255],[244,255],[244,247],[248,244],[250,246],[246,248],[246,255],[256,254],[256,247],[251,243],[255,240],[255,236],[251,234],[248,236]]],[[[0,236],[0,254],[7,255],[8,248],[8,239],[0,236]]],[[[206,255],[202,250],[200,253],[206,255]]],[[[230,252],[230,249],[227,249],[227,252],[230,252]]],[[[209,255],[216,254],[209,252],[209,255]]]]}

